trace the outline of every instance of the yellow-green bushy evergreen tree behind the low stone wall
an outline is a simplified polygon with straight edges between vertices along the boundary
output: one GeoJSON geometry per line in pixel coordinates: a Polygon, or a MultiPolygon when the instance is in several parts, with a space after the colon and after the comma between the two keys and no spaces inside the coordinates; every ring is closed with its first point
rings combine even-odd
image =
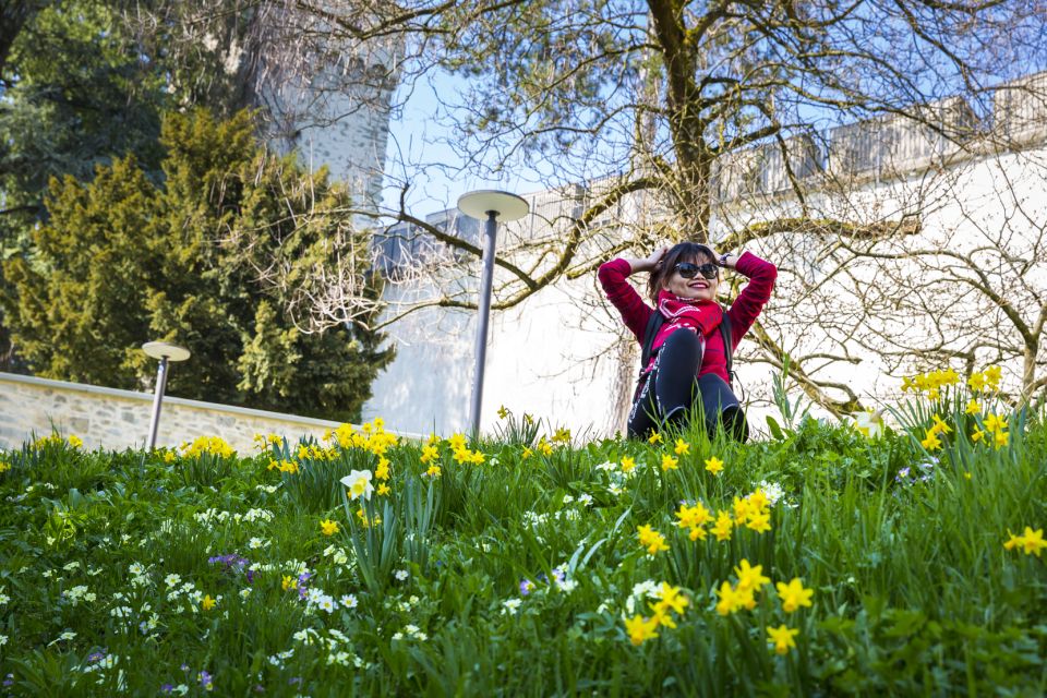
{"type": "Polygon", "coordinates": [[[155,371],[141,345],[163,339],[193,352],[174,395],[359,418],[392,349],[362,325],[305,334],[285,311],[296,274],[328,257],[380,294],[345,189],[266,152],[248,112],[171,113],[161,143],[163,185],[134,157],[52,180],[50,220],[3,265],[22,357],[37,375],[136,388],[155,371]]]}

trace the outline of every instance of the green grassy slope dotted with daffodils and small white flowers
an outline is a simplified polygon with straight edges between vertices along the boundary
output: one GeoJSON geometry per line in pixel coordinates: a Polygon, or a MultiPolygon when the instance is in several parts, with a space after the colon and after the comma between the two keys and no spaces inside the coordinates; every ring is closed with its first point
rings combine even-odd
{"type": "Polygon", "coordinates": [[[1006,446],[972,444],[984,418],[963,404],[912,402],[871,441],[789,417],[745,446],[685,432],[549,455],[510,417],[469,444],[482,465],[443,442],[438,477],[422,445],[389,446],[370,527],[339,480],[378,456],[351,444],[330,459],[286,443],[173,458],[26,444],[0,453],[0,694],[203,695],[209,677],[227,696],[1039,696],[1047,557],[1003,543],[1047,519],[1047,428],[1011,414],[1006,446]],[[953,432],[928,454],[936,410],[953,432]],[[689,453],[663,472],[677,437],[689,453]],[[682,501],[733,512],[765,481],[783,492],[769,531],[691,541],[675,526],[682,501]],[[340,530],[323,535],[323,519],[340,530]],[[648,555],[641,525],[669,550],[648,555]],[[742,559],[771,583],[720,615],[715,590],[742,559]],[[813,605],[790,614],[774,582],[794,577],[813,605]],[[653,603],[634,592],[663,581],[689,605],[634,646],[624,621],[653,603]],[[782,624],[799,634],[778,654],[767,628],[782,624]]]}

